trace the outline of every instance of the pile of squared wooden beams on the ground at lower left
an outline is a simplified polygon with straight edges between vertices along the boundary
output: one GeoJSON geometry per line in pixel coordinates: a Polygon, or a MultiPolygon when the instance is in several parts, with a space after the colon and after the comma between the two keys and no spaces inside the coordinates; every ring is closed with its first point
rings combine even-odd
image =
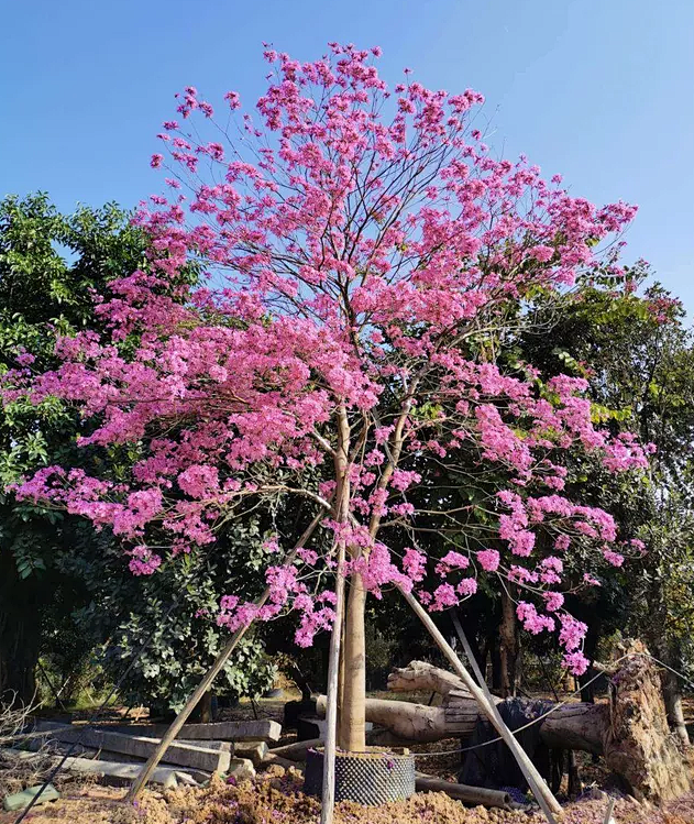
{"type": "MultiPolygon", "coordinates": [[[[36,721],[32,730],[16,737],[13,748],[0,749],[0,759],[31,759],[47,749],[58,755],[71,747],[74,755],[63,766],[66,771],[130,783],[166,728],[157,724],[93,727],[36,721]]],[[[276,721],[187,724],[166,750],[152,781],[175,787],[203,783],[212,773],[254,778],[256,767],[268,758],[268,743],[278,741],[280,734],[276,721]]]]}

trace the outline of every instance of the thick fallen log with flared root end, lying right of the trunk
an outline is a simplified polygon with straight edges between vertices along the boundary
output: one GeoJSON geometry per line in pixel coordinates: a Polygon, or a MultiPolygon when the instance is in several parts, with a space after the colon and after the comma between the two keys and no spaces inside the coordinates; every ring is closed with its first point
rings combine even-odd
{"type": "MultiPolygon", "coordinates": [[[[609,703],[555,704],[543,717],[528,717],[528,723],[538,724],[541,741],[551,749],[604,756],[606,766],[639,800],[679,798],[689,790],[690,780],[668,727],[660,674],[638,641],[623,652],[610,680],[609,703]]],[[[414,661],[395,670],[388,686],[393,691],[436,691],[442,696],[440,706],[367,699],[367,721],[398,738],[419,743],[470,738],[481,721],[476,701],[456,675],[431,664],[414,661]]],[[[502,699],[495,702],[503,703],[502,699]]],[[[322,696],[317,708],[319,713],[324,711],[322,696]]]]}

